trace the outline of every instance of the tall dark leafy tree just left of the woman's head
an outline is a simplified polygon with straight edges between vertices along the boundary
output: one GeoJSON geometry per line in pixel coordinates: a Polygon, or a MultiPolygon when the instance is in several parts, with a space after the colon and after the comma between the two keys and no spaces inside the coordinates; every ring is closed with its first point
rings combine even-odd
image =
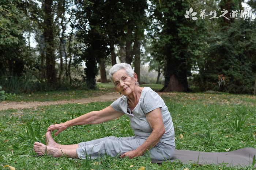
{"type": "Polygon", "coordinates": [[[80,63],[83,60],[86,62],[84,69],[86,86],[93,89],[96,87],[97,63],[104,64],[100,62],[101,59],[110,54],[106,23],[110,15],[107,9],[112,4],[110,1],[105,2],[104,0],[95,0],[90,3],[76,0],[75,4],[78,6],[76,19],[79,21],[76,24],[78,29],[76,36],[78,41],[84,44],[81,46],[82,54],[79,55],[76,62],[80,63]]]}

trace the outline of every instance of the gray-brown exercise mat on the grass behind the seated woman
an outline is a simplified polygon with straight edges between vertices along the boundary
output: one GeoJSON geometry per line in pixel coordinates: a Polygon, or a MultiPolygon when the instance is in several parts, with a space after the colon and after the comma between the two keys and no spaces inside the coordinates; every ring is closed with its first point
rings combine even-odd
{"type": "MultiPolygon", "coordinates": [[[[256,149],[251,147],[245,147],[230,152],[199,152],[191,150],[175,150],[173,158],[166,161],[174,162],[174,160],[177,161],[178,159],[181,160],[182,163],[196,163],[198,165],[223,165],[224,163],[226,166],[243,167],[245,165],[248,166],[252,164],[253,157],[255,155],[256,149]]],[[[163,161],[151,160],[151,162],[162,163],[163,161]]],[[[256,167],[256,165],[254,166],[256,167]]]]}

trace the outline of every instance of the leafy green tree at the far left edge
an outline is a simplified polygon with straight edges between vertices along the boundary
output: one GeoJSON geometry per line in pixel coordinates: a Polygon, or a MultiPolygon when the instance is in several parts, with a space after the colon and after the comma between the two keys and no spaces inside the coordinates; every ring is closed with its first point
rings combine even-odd
{"type": "Polygon", "coordinates": [[[22,59],[21,48],[25,38],[22,32],[28,22],[19,1],[0,2],[0,75],[20,76],[24,71],[26,60],[22,59]]]}

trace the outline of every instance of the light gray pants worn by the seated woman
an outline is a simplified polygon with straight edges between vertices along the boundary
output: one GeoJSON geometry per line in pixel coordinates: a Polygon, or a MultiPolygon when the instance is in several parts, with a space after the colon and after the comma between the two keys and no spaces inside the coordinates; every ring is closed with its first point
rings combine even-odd
{"type": "MultiPolygon", "coordinates": [[[[96,157],[102,157],[104,154],[115,157],[118,153],[123,155],[124,153],[132,150],[136,150],[141,146],[146,139],[139,137],[106,137],[101,139],[95,139],[93,141],[78,143],[79,148],[76,149],[76,153],[80,159],[87,158],[94,159],[96,157]]],[[[166,148],[162,148],[156,145],[149,151],[149,155],[153,160],[165,160],[171,159],[174,155],[175,147],[166,145],[166,148]]]]}

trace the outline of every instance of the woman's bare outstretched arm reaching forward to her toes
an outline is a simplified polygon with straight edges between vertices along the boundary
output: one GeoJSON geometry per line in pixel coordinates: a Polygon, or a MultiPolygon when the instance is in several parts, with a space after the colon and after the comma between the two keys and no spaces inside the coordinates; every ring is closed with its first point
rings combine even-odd
{"type": "Polygon", "coordinates": [[[110,105],[102,110],[89,112],[75,119],[68,120],[65,123],[52,124],[47,128],[47,131],[57,130],[57,132],[54,134],[54,136],[57,136],[60,132],[62,132],[63,130],[67,129],[70,126],[85,125],[85,124],[99,124],[99,123],[107,122],[109,120],[116,119],[122,115],[124,114],[114,110],[110,105]]]}

